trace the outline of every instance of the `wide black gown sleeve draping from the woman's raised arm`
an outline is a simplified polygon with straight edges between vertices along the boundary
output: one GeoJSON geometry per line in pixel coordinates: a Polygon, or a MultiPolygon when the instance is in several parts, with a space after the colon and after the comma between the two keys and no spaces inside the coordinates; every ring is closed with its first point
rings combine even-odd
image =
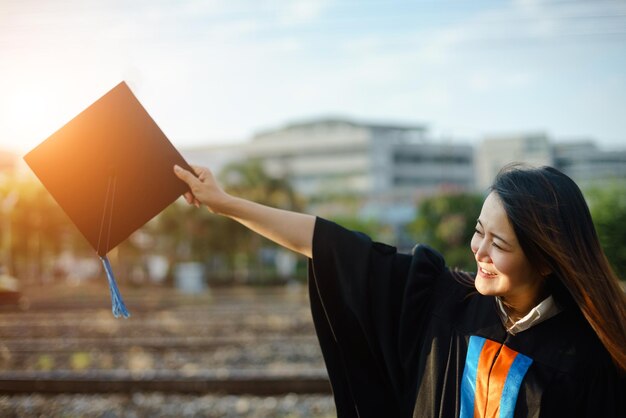
{"type": "Polygon", "coordinates": [[[339,417],[401,415],[404,305],[425,304],[443,270],[443,258],[428,247],[399,254],[317,218],[309,294],[339,417]]]}

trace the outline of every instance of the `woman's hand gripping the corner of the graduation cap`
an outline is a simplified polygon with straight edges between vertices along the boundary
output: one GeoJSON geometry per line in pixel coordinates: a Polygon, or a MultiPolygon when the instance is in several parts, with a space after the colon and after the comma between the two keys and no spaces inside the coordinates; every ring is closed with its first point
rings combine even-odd
{"type": "Polygon", "coordinates": [[[196,207],[203,204],[213,213],[222,213],[231,196],[217,184],[211,170],[198,166],[191,166],[191,168],[196,173],[195,176],[178,165],[174,166],[176,176],[189,186],[190,191],[183,195],[187,203],[196,207]]]}

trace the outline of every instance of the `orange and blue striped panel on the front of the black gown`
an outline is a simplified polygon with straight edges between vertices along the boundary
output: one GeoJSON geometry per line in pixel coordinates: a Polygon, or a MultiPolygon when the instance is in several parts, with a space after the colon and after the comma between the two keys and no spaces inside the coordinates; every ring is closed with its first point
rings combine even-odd
{"type": "Polygon", "coordinates": [[[533,360],[472,335],[461,381],[460,418],[513,418],[522,380],[533,360]]]}

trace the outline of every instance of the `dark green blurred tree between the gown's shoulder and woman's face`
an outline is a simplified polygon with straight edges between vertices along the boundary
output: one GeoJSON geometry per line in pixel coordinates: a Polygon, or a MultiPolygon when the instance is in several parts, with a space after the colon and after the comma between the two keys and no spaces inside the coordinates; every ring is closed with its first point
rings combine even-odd
{"type": "Polygon", "coordinates": [[[408,225],[416,242],[440,251],[450,267],[474,271],[470,250],[476,219],[483,204],[480,194],[441,194],[422,200],[416,219],[408,225]]]}

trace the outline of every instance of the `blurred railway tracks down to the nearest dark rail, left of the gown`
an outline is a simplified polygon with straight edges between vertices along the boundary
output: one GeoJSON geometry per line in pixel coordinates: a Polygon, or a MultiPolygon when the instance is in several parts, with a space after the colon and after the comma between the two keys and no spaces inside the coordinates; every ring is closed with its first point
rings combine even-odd
{"type": "Polygon", "coordinates": [[[0,394],[331,393],[307,298],[293,292],[43,298],[0,312],[0,394]]]}

